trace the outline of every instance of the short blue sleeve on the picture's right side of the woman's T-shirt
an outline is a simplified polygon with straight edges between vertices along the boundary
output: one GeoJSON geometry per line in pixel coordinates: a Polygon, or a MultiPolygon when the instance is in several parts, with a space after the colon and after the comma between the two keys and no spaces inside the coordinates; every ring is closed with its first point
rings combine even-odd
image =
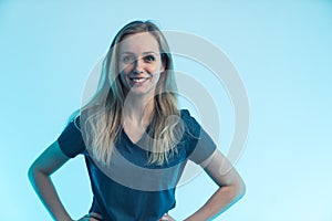
{"type": "Polygon", "coordinates": [[[181,109],[181,118],[186,127],[187,158],[200,165],[214,154],[217,146],[187,109],[181,109]]]}

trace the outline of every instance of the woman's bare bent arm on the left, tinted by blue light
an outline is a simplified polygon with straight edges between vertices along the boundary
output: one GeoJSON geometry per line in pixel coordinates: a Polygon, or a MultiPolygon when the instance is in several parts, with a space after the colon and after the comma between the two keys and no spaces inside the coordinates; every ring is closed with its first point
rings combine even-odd
{"type": "Polygon", "coordinates": [[[28,172],[40,200],[51,217],[59,221],[72,221],[72,219],[61,203],[50,176],[69,159],[60,149],[58,141],[54,141],[34,160],[28,172]]]}

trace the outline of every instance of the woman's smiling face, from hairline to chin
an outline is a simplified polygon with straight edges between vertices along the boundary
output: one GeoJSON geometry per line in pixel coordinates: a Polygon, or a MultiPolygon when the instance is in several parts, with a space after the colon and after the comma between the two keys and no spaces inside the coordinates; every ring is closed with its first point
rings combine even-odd
{"type": "Polygon", "coordinates": [[[148,32],[126,36],[118,48],[123,84],[135,95],[153,95],[164,66],[157,40],[148,32]]]}

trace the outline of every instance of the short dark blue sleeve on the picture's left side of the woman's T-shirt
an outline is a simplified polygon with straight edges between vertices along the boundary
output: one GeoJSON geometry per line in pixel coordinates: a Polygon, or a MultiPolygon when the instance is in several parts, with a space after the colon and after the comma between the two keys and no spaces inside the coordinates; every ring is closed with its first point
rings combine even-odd
{"type": "Polygon", "coordinates": [[[58,138],[60,149],[70,158],[85,150],[85,144],[80,129],[80,117],[71,120],[58,138]]]}

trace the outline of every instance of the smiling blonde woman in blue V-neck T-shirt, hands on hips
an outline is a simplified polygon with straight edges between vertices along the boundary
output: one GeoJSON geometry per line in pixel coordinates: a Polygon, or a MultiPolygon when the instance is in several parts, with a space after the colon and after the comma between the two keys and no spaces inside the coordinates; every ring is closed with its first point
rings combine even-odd
{"type": "Polygon", "coordinates": [[[219,186],[186,220],[208,220],[245,193],[245,185],[187,109],[178,109],[173,61],[152,22],[134,21],[114,38],[98,90],[38,157],[29,178],[54,220],[72,220],[50,175],[83,154],[93,203],[80,220],[173,220],[175,189],[188,160],[219,186]]]}

